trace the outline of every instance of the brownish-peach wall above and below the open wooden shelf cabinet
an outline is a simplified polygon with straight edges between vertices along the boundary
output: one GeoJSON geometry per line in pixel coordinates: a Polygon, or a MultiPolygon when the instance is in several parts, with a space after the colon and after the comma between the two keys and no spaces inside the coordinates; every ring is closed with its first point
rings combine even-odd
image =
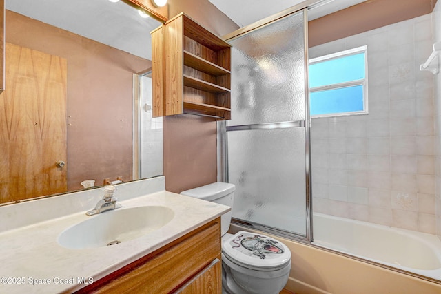
{"type": "MultiPolygon", "coordinates": [[[[238,29],[212,3],[197,0],[169,0],[170,19],[185,12],[207,30],[223,36],[238,29]]],[[[216,121],[182,114],[163,120],[165,189],[180,193],[216,182],[216,121]]]]}

